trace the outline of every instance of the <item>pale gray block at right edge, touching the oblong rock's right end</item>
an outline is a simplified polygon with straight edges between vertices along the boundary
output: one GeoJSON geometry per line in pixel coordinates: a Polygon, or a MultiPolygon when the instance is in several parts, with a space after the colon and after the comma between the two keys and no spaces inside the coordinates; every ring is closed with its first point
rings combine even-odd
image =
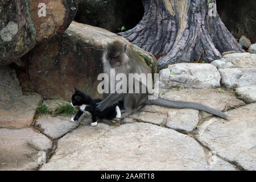
{"type": "Polygon", "coordinates": [[[221,84],[227,88],[256,85],[255,68],[225,68],[219,69],[221,84]]]}

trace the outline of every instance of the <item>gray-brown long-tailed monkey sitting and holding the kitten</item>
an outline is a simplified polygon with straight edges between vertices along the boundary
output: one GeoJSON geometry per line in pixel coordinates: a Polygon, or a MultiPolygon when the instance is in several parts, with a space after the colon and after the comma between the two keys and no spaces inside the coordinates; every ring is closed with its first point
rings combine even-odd
{"type": "MultiPolygon", "coordinates": [[[[102,63],[104,67],[104,73],[109,76],[110,69],[115,69],[116,73],[124,73],[126,76],[129,73],[151,73],[151,69],[147,66],[145,61],[137,55],[133,54],[132,50],[127,44],[120,40],[114,40],[107,44],[105,51],[102,55],[102,63]]],[[[111,81],[111,80],[110,80],[111,81]]],[[[109,82],[110,82],[109,81],[109,82]]],[[[116,82],[115,82],[116,85],[116,82]]],[[[128,85],[128,84],[127,84],[128,85]]],[[[141,83],[140,86],[145,86],[141,83]]],[[[128,88],[128,86],[127,86],[128,88]]],[[[117,91],[117,90],[114,90],[117,91]]],[[[102,111],[106,107],[113,105],[117,101],[123,102],[123,107],[126,111],[131,111],[141,105],[159,105],[165,107],[172,107],[178,109],[196,109],[200,111],[206,111],[207,113],[216,115],[218,117],[229,119],[229,116],[221,111],[213,109],[212,107],[205,106],[196,102],[184,102],[184,101],[172,101],[158,97],[156,100],[148,100],[150,93],[110,93],[105,95],[105,100],[99,102],[96,109],[102,111]]]]}

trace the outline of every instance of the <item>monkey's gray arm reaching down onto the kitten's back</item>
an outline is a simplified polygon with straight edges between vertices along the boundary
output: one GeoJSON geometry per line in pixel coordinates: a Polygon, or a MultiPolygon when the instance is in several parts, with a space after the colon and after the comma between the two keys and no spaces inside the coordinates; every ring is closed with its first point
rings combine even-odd
{"type": "Polygon", "coordinates": [[[96,109],[103,111],[106,107],[115,104],[115,102],[121,100],[125,96],[125,93],[112,93],[105,100],[98,102],[96,109]]]}

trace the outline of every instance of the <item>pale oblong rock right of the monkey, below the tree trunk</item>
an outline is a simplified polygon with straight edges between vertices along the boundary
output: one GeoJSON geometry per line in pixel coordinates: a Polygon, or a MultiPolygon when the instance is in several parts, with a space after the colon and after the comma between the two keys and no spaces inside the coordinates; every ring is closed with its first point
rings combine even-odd
{"type": "Polygon", "coordinates": [[[159,72],[159,87],[215,88],[220,86],[220,73],[211,64],[179,63],[159,72]]]}

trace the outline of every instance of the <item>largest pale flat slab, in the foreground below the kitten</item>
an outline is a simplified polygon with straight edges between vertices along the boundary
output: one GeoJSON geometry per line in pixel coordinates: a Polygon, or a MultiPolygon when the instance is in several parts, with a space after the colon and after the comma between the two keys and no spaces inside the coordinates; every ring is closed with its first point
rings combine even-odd
{"type": "Polygon", "coordinates": [[[208,170],[195,139],[150,123],[83,126],[61,138],[40,170],[208,170]]]}

